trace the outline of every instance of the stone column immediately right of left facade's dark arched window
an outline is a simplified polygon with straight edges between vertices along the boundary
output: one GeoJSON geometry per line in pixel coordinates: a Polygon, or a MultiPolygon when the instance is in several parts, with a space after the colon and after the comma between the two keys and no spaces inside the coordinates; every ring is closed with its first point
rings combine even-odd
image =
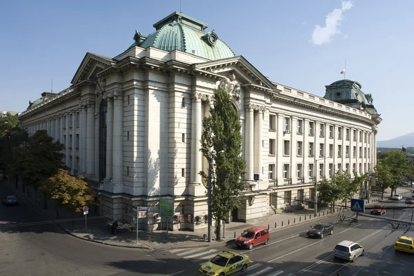
{"type": "Polygon", "coordinates": [[[114,134],[114,101],[112,92],[103,95],[108,103],[108,112],[106,113],[106,181],[112,179],[112,144],[114,134]]]}

